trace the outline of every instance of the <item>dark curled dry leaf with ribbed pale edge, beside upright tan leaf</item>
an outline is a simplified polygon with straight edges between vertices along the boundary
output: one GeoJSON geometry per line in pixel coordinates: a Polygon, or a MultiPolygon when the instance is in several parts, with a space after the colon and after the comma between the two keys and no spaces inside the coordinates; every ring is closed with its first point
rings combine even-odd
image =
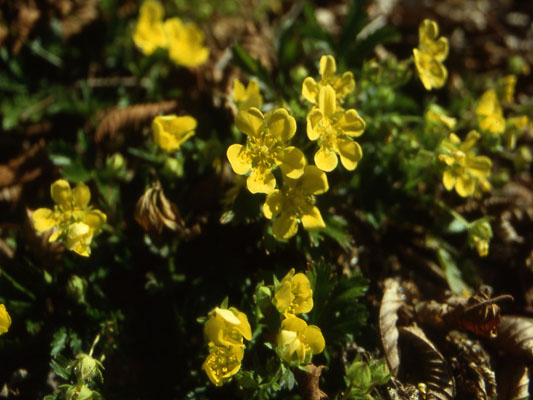
{"type": "Polygon", "coordinates": [[[455,380],[442,354],[420,328],[401,327],[399,332],[402,349],[399,374],[411,375],[407,380],[425,384],[427,398],[453,399],[455,380]]]}

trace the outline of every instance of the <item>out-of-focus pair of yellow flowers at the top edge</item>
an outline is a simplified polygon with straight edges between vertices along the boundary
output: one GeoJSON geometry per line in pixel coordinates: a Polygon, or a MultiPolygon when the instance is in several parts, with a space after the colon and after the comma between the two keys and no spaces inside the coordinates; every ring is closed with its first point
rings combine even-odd
{"type": "Polygon", "coordinates": [[[209,49],[203,44],[203,32],[194,23],[183,23],[177,17],[163,21],[164,13],[158,1],[145,1],[141,5],[133,42],[146,55],[164,48],[178,65],[196,67],[203,64],[209,57],[209,49]]]}

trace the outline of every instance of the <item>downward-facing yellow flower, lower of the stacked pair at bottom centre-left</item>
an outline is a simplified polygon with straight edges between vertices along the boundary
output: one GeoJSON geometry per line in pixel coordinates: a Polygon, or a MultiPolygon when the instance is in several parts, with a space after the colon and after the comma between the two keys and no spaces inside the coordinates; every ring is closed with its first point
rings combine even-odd
{"type": "Polygon", "coordinates": [[[217,346],[209,343],[209,355],[202,368],[215,386],[222,386],[241,368],[244,346],[217,346]]]}

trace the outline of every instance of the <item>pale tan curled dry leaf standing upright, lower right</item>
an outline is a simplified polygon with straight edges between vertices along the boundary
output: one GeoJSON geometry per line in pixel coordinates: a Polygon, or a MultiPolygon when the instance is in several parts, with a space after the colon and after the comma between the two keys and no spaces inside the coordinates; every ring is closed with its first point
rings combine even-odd
{"type": "Polygon", "coordinates": [[[385,358],[394,374],[396,374],[400,366],[398,352],[399,333],[396,323],[398,322],[398,310],[403,304],[400,284],[395,279],[387,279],[381,307],[379,308],[379,330],[385,358]]]}

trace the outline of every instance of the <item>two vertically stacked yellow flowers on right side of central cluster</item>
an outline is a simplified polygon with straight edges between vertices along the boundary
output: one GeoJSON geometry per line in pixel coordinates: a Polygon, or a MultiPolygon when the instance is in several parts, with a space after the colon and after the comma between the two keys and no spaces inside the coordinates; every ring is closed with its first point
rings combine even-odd
{"type": "Polygon", "coordinates": [[[323,56],[320,59],[320,76],[317,83],[311,77],[302,85],[303,97],[313,104],[307,114],[307,137],[317,141],[315,164],[322,171],[333,171],[341,163],[349,171],[357,167],[363,156],[359,143],[352,138],[363,134],[365,121],[356,110],[344,110],[344,98],[354,91],[355,81],[351,72],[335,75],[335,59],[323,56]]]}

